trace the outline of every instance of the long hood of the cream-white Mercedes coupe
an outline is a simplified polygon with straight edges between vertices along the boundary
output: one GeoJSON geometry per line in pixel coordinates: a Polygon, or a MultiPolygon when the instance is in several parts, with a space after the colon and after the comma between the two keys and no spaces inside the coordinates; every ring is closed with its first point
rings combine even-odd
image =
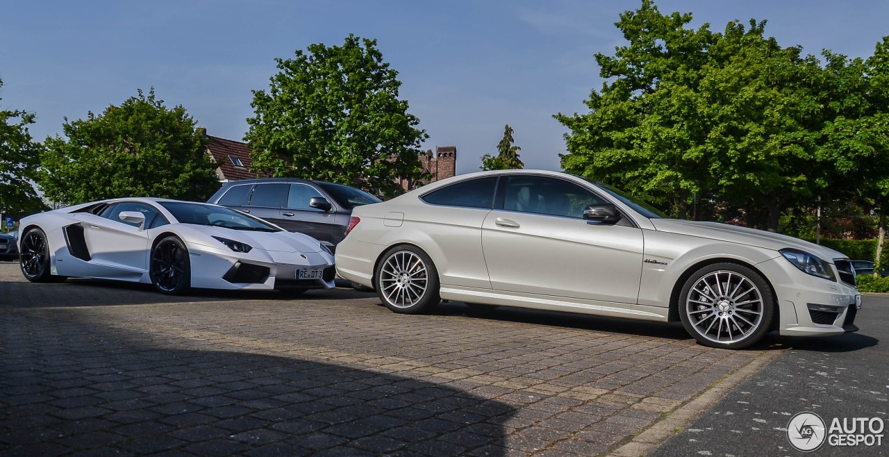
{"type": "MultiPolygon", "coordinates": [[[[765,230],[748,229],[719,222],[702,222],[698,220],[652,219],[651,221],[654,228],[662,232],[716,239],[729,243],[772,249],[774,251],[784,248],[795,248],[806,253],[812,253],[825,261],[847,258],[844,253],[839,253],[833,249],[765,230]]],[[[775,253],[775,255],[777,256],[778,253],[775,253]]]]}

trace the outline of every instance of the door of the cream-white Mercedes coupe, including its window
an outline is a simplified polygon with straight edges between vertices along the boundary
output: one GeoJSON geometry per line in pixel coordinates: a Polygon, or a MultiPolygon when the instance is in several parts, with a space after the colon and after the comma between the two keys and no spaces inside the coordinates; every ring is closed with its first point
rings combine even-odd
{"type": "Polygon", "coordinates": [[[596,301],[637,303],[642,230],[582,219],[589,204],[609,203],[588,188],[549,176],[501,179],[498,208],[482,226],[494,289],[596,301]]]}

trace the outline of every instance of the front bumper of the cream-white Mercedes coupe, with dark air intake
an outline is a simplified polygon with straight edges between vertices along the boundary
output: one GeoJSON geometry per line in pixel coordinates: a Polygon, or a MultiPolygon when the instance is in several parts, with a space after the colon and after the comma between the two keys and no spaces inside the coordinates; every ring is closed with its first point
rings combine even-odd
{"type": "Polygon", "coordinates": [[[855,332],[861,293],[852,285],[806,275],[783,258],[765,261],[762,269],[778,298],[781,335],[818,336],[855,332]]]}

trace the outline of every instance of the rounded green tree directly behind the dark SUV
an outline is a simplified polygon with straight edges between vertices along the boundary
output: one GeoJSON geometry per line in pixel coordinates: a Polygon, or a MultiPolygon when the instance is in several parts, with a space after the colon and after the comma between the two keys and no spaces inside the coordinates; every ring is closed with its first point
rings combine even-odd
{"type": "Polygon", "coordinates": [[[401,82],[376,40],[349,35],[341,46],[310,44],[266,91],[253,91],[255,116],[244,140],[257,171],[329,180],[395,196],[396,180],[422,180],[420,120],[398,99],[401,82]]]}

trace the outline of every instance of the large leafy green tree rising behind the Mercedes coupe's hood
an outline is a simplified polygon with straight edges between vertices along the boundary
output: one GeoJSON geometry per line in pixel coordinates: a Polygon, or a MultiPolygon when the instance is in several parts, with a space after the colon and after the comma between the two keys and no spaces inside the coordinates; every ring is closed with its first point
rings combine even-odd
{"type": "Polygon", "coordinates": [[[621,14],[629,44],[596,55],[606,82],[585,101],[589,113],[556,115],[571,130],[562,166],[680,218],[697,196],[716,203],[718,219],[741,207],[777,229],[782,209],[819,182],[806,179],[817,165],[817,60],[766,38],[765,21],[717,33],[686,28],[691,20],[650,0],[621,14]]]}

